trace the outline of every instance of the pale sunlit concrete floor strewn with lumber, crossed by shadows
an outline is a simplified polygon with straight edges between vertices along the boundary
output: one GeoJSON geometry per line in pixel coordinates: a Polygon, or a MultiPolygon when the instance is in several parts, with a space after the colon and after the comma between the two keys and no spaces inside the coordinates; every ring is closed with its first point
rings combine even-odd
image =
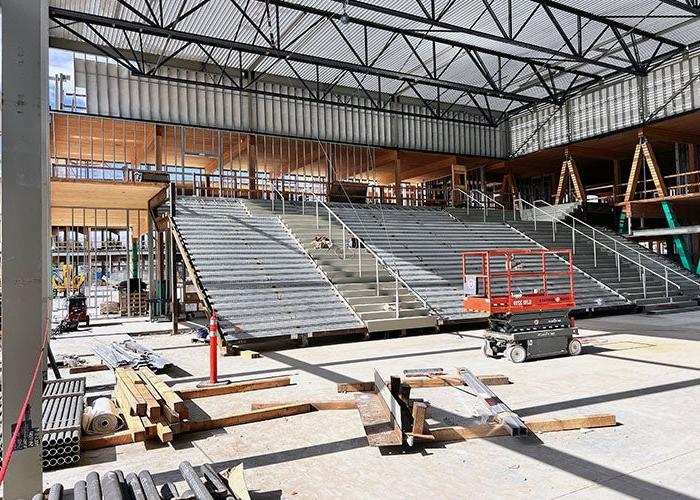
{"type": "MultiPolygon", "coordinates": [[[[578,325],[588,337],[581,356],[522,365],[484,358],[479,331],[274,350],[253,360],[221,358],[226,377],[291,375],[294,385],[197,403],[218,416],[245,411],[253,401],[351,397],[337,394],[336,384],[370,380],[375,368],[388,376],[405,368],[467,366],[477,374],[508,375],[512,384],[496,392],[523,417],[614,413],[620,422],[615,428],[382,454],[367,446],[356,411],[323,411],[180,436],[171,445],[87,451],[79,464],[48,472],[44,480],[71,487],[91,470],[148,468],[162,484],[177,479],[177,465],[189,460],[211,462],[217,470],[243,462],[257,498],[700,498],[700,437],[691,424],[700,408],[700,314],[626,315],[578,325]]],[[[131,323],[99,326],[52,346],[56,353],[84,354],[90,342],[137,329],[131,323]]],[[[177,365],[169,373],[176,387],[206,378],[208,349],[192,344],[189,335],[152,334],[138,341],[177,365]]],[[[111,381],[110,372],[88,377],[89,386],[111,381]]],[[[478,406],[455,391],[423,389],[412,396],[428,399],[428,415],[448,424],[459,423],[455,413],[478,418],[478,406]]]]}

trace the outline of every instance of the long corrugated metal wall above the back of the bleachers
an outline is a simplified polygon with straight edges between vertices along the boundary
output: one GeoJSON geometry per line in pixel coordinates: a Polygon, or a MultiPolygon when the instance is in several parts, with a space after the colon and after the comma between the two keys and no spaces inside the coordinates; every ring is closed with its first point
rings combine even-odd
{"type": "MultiPolygon", "coordinates": [[[[464,155],[505,154],[503,127],[436,119],[422,106],[392,104],[394,110],[420,115],[402,116],[350,108],[344,102],[348,97],[341,95],[334,96],[337,105],[303,101],[299,97],[309,97],[306,89],[285,85],[258,82],[256,89],[288,98],[140,78],[117,64],[89,58],[74,62],[76,86],[86,89],[87,112],[93,115],[464,155]]],[[[218,78],[176,68],[160,74],[197,82],[218,78]]],[[[366,99],[350,99],[371,106],[366,99]]],[[[450,118],[481,120],[463,112],[450,118]]]]}

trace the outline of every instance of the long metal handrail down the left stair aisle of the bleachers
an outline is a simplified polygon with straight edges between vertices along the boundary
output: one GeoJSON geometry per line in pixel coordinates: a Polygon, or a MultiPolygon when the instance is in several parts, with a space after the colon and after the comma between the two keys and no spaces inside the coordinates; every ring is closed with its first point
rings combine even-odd
{"type": "Polygon", "coordinates": [[[384,259],[382,259],[372,248],[370,248],[362,238],[360,238],[355,231],[350,229],[350,227],[335,213],[331,208],[326,205],[322,200],[316,196],[315,193],[310,193],[310,192],[305,192],[304,196],[302,196],[302,205],[301,205],[301,213],[302,215],[306,213],[306,195],[309,195],[311,197],[311,200],[315,204],[315,210],[316,210],[316,229],[320,229],[320,216],[319,216],[319,206],[323,207],[326,209],[328,212],[328,239],[332,242],[333,241],[333,219],[340,224],[342,228],[342,245],[343,245],[343,260],[347,258],[346,255],[346,249],[347,249],[347,240],[346,240],[346,233],[350,235],[350,237],[355,239],[355,242],[357,243],[357,255],[358,255],[358,260],[357,260],[357,268],[358,268],[358,274],[362,276],[362,248],[364,248],[373,258],[374,258],[374,275],[375,275],[375,286],[377,289],[377,296],[381,295],[381,289],[380,289],[380,282],[379,282],[379,267],[383,266],[384,269],[394,278],[394,300],[395,300],[395,317],[398,319],[401,317],[401,311],[400,311],[400,304],[399,304],[399,284],[403,285],[406,290],[411,292],[423,305],[423,307],[432,313],[438,315],[437,311],[430,305],[428,302],[418,293],[416,292],[406,281],[401,277],[401,274],[398,269],[392,268],[389,264],[387,264],[384,259]]]}

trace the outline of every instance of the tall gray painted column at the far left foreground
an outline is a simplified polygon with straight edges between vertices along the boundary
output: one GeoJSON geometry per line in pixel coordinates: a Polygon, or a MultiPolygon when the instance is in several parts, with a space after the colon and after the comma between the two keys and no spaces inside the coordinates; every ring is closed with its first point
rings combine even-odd
{"type": "MultiPolygon", "coordinates": [[[[29,388],[48,318],[48,2],[2,1],[2,400],[3,447],[29,388]]],[[[45,366],[45,365],[44,365],[45,366]]],[[[42,489],[42,373],[4,482],[4,498],[42,489]],[[24,438],[24,439],[21,439],[24,438]]]]}

